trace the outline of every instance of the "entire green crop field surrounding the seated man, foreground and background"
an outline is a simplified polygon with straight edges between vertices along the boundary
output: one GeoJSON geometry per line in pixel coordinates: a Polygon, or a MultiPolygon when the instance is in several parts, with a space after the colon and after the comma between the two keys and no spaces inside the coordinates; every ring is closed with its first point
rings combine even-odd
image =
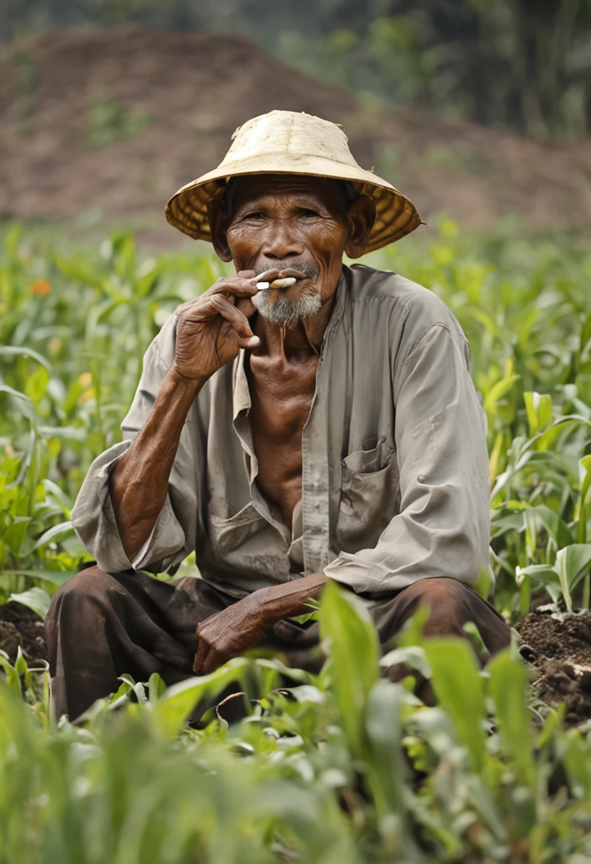
{"type": "Polygon", "coordinates": [[[0,234],[2,864],[591,860],[591,251],[444,219],[367,263],[434,290],[467,334],[512,649],[481,669],[477,632],[423,639],[416,618],[381,658],[365,608],[329,584],[319,676],[254,652],[170,689],[123,677],[73,726],[52,721],[42,639],[35,653],[14,610],[41,634],[90,560],[70,523],[86,471],[119,440],[149,341],[226,265],[197,245],[148,257],[125,233],[79,250],[0,234]],[[395,662],[402,684],[380,675],[395,662]],[[215,703],[232,683],[230,724],[215,703]],[[198,702],[213,707],[187,725],[198,702]]]}

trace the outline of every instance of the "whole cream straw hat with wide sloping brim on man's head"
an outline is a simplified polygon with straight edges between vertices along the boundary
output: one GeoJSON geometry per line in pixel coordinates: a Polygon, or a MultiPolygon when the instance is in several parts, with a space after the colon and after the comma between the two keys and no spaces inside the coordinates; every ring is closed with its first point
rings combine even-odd
{"type": "Polygon", "coordinates": [[[168,222],[189,237],[211,241],[207,202],[220,198],[232,177],[246,174],[352,181],[358,192],[368,195],[376,205],[368,252],[410,234],[422,222],[412,201],[388,181],[359,167],[339,126],[296,111],[270,111],[240,126],[219,167],[187,183],[168,200],[168,222]]]}

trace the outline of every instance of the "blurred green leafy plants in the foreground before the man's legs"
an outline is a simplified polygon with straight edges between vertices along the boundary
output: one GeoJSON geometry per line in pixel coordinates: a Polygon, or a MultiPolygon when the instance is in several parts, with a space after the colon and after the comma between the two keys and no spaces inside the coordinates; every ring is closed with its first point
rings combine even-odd
{"type": "Polygon", "coordinates": [[[14,668],[0,658],[2,861],[559,864],[591,853],[589,741],[554,712],[531,730],[528,675],[509,650],[479,672],[467,643],[419,645],[441,697],[428,708],[379,677],[372,620],[333,584],[321,621],[319,676],[254,658],[168,690],[156,675],[124,676],[76,727],[52,726],[47,686],[33,692],[22,657],[14,668]],[[242,722],[181,728],[204,693],[244,686],[247,672],[258,690],[242,722]]]}

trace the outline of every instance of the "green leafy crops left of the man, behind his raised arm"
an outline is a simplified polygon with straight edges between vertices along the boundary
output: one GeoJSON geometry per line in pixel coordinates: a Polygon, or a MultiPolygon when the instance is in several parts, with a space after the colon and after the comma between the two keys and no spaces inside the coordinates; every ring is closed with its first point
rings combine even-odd
{"type": "Polygon", "coordinates": [[[53,593],[87,559],[70,523],[81,481],[119,440],[149,340],[220,273],[207,257],[140,261],[125,234],[91,257],[34,252],[18,226],[5,233],[0,596],[32,583],[53,593]]]}

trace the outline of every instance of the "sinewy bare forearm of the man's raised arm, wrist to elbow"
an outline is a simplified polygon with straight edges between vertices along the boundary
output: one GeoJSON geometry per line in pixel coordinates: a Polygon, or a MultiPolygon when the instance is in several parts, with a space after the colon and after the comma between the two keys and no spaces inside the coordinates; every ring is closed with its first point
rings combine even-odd
{"type": "Polygon", "coordinates": [[[133,560],[148,539],[168,490],[187,414],[205,380],[174,369],[162,380],[154,407],[111,473],[111,501],[125,555],[133,560]]]}

